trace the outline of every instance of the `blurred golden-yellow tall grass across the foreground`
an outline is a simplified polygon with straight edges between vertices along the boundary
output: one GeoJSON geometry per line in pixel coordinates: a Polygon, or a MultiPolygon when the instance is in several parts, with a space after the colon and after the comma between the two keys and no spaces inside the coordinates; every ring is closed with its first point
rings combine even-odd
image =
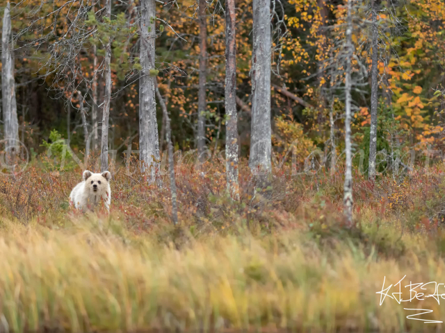
{"type": "MultiPolygon", "coordinates": [[[[63,230],[3,222],[0,326],[14,332],[437,327],[407,320],[394,300],[380,307],[376,294],[384,276],[387,284],[405,274],[405,284],[445,281],[444,259],[429,254],[437,248],[427,238],[403,236],[418,248],[397,260],[346,240],[319,246],[296,230],[184,236],[178,249],[127,232],[118,217],[72,218],[63,230]]],[[[423,318],[443,318],[435,300],[420,303],[408,307],[434,309],[423,318]]]]}

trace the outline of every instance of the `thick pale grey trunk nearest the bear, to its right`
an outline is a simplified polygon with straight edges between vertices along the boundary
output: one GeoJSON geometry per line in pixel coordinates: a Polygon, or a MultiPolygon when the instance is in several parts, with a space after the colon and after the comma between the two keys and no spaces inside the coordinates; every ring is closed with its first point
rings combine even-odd
{"type": "Polygon", "coordinates": [[[140,10],[139,158],[142,171],[149,171],[147,178],[152,183],[160,160],[154,67],[155,0],[143,0],[140,10]]]}

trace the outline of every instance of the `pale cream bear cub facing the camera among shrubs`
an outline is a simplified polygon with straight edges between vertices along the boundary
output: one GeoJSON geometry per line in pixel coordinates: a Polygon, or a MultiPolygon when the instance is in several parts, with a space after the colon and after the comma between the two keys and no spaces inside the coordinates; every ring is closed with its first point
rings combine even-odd
{"type": "Polygon", "coordinates": [[[110,171],[103,173],[83,171],[83,182],[79,182],[71,191],[70,205],[86,212],[87,208],[93,210],[103,201],[109,211],[111,204],[110,178],[110,171]]]}

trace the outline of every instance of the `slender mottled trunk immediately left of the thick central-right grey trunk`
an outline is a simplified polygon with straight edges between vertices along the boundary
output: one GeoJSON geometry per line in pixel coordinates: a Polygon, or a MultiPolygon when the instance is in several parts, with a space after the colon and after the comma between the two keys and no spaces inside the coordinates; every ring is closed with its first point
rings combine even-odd
{"type": "Polygon", "coordinates": [[[225,2],[225,172],[227,191],[239,200],[238,184],[238,115],[236,114],[236,41],[235,0],[225,2]]]}

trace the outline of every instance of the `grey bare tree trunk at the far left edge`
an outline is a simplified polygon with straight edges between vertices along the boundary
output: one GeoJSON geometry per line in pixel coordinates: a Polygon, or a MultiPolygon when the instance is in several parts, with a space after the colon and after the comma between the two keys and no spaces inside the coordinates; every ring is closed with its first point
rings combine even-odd
{"type": "Polygon", "coordinates": [[[14,46],[11,40],[11,15],[9,1],[3,16],[3,31],[1,35],[1,89],[3,102],[3,123],[5,129],[5,151],[8,165],[19,153],[19,121],[17,119],[17,101],[15,100],[14,79],[14,46]]]}

